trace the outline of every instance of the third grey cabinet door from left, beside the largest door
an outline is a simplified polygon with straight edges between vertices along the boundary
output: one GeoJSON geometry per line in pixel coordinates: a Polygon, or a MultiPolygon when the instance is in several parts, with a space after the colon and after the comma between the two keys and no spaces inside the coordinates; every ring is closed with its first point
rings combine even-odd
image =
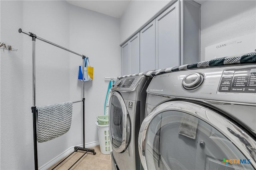
{"type": "Polygon", "coordinates": [[[156,69],[155,20],[140,31],[140,72],[156,69]]]}

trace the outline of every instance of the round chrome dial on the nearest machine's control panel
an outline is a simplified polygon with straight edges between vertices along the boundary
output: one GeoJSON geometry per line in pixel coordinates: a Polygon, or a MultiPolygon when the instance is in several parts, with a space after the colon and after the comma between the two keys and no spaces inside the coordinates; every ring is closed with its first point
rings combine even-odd
{"type": "Polygon", "coordinates": [[[184,77],[182,87],[186,90],[194,90],[204,82],[204,74],[193,72],[184,77]]]}

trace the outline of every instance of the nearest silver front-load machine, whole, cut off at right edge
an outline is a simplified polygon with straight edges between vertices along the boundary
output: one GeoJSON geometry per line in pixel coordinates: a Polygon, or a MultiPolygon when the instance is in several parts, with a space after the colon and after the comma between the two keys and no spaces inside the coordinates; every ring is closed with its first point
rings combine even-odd
{"type": "Polygon", "coordinates": [[[154,76],[139,132],[147,169],[256,168],[256,64],[154,76]]]}

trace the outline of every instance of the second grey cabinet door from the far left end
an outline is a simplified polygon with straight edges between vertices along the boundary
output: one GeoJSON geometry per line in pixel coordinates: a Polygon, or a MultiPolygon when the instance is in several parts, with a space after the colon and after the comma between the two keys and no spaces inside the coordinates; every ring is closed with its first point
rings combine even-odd
{"type": "Polygon", "coordinates": [[[140,33],[129,40],[130,44],[130,74],[140,72],[140,33]]]}

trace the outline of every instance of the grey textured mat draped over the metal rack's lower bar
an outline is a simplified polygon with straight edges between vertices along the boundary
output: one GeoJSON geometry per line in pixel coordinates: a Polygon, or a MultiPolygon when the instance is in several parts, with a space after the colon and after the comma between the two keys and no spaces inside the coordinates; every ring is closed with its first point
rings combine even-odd
{"type": "Polygon", "coordinates": [[[70,129],[73,102],[37,107],[37,141],[50,141],[70,129]]]}

